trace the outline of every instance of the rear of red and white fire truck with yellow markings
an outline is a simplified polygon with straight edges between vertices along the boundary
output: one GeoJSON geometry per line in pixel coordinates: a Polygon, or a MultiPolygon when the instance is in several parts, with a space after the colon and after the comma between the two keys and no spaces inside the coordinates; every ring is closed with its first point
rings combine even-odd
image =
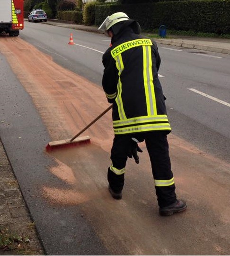
{"type": "Polygon", "coordinates": [[[24,0],[0,0],[0,33],[18,37],[24,27],[24,0]]]}

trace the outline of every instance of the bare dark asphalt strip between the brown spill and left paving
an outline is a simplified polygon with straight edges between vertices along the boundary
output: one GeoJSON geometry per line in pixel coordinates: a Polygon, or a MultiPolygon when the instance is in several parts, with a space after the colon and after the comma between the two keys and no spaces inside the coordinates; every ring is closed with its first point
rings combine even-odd
{"type": "Polygon", "coordinates": [[[51,138],[34,102],[2,54],[0,84],[1,140],[46,254],[107,254],[88,219],[82,218],[78,206],[60,207],[41,197],[41,188],[45,184],[63,185],[60,179],[47,172],[56,165],[44,151],[51,138]]]}

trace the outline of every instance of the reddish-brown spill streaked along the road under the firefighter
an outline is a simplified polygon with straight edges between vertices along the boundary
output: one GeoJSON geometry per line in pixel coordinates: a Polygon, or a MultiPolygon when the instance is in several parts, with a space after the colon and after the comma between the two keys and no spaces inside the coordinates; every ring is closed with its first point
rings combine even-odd
{"type": "MultiPolygon", "coordinates": [[[[101,87],[55,64],[19,37],[0,37],[0,52],[31,95],[52,140],[73,137],[108,107],[101,87]]],[[[162,218],[145,145],[139,165],[128,160],[124,196],[115,201],[106,181],[111,111],[84,135],[91,137],[91,144],[50,154],[57,165],[49,171],[63,181],[63,189],[50,184],[42,193],[54,204],[80,205],[111,254],[230,254],[229,164],[170,134],[177,196],[187,201],[188,210],[162,218]]]]}

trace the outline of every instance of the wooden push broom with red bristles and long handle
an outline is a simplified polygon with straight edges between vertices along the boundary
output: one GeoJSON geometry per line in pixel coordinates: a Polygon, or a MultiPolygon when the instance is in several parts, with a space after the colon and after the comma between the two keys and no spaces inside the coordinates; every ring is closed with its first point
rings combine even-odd
{"type": "Polygon", "coordinates": [[[86,144],[90,143],[90,137],[89,136],[82,136],[79,137],[85,130],[87,130],[91,125],[93,125],[98,119],[100,119],[102,116],[104,116],[110,109],[112,109],[113,104],[110,105],[106,110],[104,110],[97,118],[95,118],[91,123],[89,123],[85,128],[83,128],[78,134],[76,134],[71,139],[62,139],[62,140],[56,140],[56,141],[50,141],[46,148],[46,151],[50,152],[53,149],[63,148],[63,147],[69,147],[69,146],[78,146],[80,144],[86,144]]]}

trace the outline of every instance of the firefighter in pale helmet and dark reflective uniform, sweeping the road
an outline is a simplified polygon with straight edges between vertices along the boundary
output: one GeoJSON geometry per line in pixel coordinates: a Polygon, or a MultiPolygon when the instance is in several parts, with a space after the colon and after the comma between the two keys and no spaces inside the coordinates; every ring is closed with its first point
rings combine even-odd
{"type": "Polygon", "coordinates": [[[113,104],[114,141],[112,163],[108,168],[108,190],[114,199],[122,199],[126,161],[139,163],[139,142],[145,141],[159,214],[168,216],[186,209],[177,200],[168,154],[168,121],[162,87],[158,78],[160,56],[152,39],[140,35],[141,27],[124,12],[108,16],[98,30],[111,37],[111,46],[102,58],[102,86],[107,101],[113,104]]]}

